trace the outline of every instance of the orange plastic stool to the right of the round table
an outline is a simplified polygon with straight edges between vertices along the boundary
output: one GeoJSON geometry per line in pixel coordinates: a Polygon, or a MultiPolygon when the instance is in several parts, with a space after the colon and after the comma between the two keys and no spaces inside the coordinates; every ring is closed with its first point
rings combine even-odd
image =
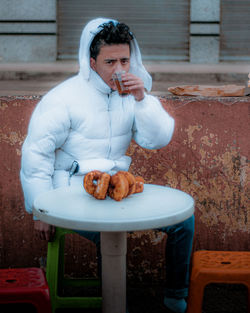
{"type": "Polygon", "coordinates": [[[204,288],[210,283],[244,284],[250,312],[250,252],[194,252],[187,313],[202,312],[204,288]]]}

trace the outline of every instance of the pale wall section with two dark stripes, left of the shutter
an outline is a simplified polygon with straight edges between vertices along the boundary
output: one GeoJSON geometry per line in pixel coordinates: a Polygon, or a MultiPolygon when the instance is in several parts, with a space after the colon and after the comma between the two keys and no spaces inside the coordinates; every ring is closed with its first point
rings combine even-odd
{"type": "Polygon", "coordinates": [[[49,62],[57,56],[55,0],[1,0],[0,62],[49,62]]]}

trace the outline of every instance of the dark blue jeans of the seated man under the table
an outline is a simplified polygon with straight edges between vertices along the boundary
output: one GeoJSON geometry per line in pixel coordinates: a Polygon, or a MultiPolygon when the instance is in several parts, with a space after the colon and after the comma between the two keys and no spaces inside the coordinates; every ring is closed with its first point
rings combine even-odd
{"type": "MultiPolygon", "coordinates": [[[[194,236],[194,216],[182,223],[163,227],[159,231],[168,235],[166,244],[165,296],[185,298],[188,296],[189,266],[194,236]]],[[[93,241],[97,246],[98,272],[101,273],[100,233],[75,231],[93,241]]]]}

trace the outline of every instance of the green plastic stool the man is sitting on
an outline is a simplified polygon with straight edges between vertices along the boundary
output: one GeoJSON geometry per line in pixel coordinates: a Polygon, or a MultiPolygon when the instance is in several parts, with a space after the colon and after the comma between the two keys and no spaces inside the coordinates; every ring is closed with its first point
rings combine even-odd
{"type": "Polygon", "coordinates": [[[64,242],[66,234],[74,231],[57,227],[53,242],[48,243],[46,278],[50,289],[52,312],[59,308],[100,308],[101,297],[63,297],[58,294],[58,287],[100,286],[98,279],[73,279],[64,277],[64,242]]]}

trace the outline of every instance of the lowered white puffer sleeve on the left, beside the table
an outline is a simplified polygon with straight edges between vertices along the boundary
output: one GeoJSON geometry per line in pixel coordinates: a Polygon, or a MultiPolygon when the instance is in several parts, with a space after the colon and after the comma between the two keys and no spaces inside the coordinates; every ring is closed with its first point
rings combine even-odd
{"type": "Polygon", "coordinates": [[[21,184],[25,208],[32,213],[35,198],[52,189],[55,150],[68,136],[70,119],[66,106],[42,100],[30,120],[22,146],[21,184]]]}

